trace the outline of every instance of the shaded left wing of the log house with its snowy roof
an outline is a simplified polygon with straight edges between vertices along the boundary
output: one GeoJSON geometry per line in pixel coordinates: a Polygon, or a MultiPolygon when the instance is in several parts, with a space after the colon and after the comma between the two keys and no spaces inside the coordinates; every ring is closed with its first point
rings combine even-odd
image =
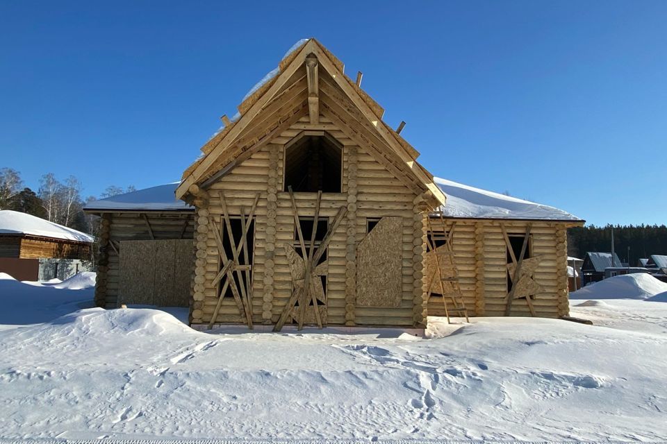
{"type": "Polygon", "coordinates": [[[187,307],[194,257],[194,208],[174,198],[176,184],[95,200],[101,217],[95,302],[187,307]]]}

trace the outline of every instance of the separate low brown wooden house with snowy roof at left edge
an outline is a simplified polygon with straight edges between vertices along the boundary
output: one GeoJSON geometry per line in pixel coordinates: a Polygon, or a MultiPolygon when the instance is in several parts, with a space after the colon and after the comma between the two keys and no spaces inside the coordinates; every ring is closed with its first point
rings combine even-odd
{"type": "Polygon", "coordinates": [[[39,217],[0,211],[0,273],[17,280],[66,279],[89,269],[94,239],[39,217]]]}

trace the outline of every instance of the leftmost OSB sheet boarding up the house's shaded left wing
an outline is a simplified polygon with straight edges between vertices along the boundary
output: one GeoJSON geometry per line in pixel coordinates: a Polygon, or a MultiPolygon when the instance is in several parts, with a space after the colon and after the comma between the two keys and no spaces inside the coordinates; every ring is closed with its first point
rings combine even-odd
{"type": "Polygon", "coordinates": [[[155,241],[120,242],[118,305],[153,305],[155,241]]]}

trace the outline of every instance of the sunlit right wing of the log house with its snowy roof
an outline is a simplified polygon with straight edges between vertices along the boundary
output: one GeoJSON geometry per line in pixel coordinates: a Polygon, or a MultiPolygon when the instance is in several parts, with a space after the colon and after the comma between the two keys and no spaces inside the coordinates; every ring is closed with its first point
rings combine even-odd
{"type": "MultiPolygon", "coordinates": [[[[450,180],[436,179],[447,196],[443,214],[431,214],[432,237],[452,237],[453,261],[440,287],[427,273],[428,312],[443,315],[441,293],[460,287],[475,316],[560,317],[569,313],[567,229],[583,222],[562,210],[450,180]],[[458,278],[452,286],[448,279],[458,278]],[[517,282],[517,284],[515,284],[517,282]]],[[[436,251],[440,247],[434,244],[436,251]]],[[[451,305],[454,305],[452,302],[451,305]]]]}

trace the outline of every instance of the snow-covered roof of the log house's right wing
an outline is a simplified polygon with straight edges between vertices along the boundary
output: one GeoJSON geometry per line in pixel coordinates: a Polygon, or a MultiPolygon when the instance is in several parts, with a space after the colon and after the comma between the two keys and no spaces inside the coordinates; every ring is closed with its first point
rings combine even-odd
{"type": "Polygon", "coordinates": [[[443,210],[447,217],[581,221],[573,214],[548,205],[470,187],[452,180],[434,178],[434,182],[447,196],[443,210]]]}

